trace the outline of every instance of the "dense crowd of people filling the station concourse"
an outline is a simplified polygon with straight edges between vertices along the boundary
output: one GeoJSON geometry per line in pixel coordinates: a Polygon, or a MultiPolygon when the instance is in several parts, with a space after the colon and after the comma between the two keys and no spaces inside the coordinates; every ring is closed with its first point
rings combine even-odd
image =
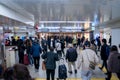
{"type": "MultiPolygon", "coordinates": [[[[113,70],[115,68],[114,66],[116,65],[112,64],[113,63],[112,61],[115,60],[115,57],[113,58],[113,55],[118,54],[117,55],[118,61],[120,59],[117,46],[116,45],[111,46],[111,42],[108,45],[106,39],[102,39],[101,41],[100,37],[97,37],[96,39],[89,41],[88,38],[85,38],[84,36],[82,36],[82,38],[80,37],[73,38],[71,36],[66,36],[66,37],[48,36],[47,38],[42,37],[41,40],[39,40],[37,37],[34,38],[26,37],[25,40],[22,40],[20,39],[20,37],[18,37],[18,40],[15,41],[14,37],[11,38],[12,38],[11,45],[16,45],[18,47],[20,64],[24,64],[24,53],[27,53],[29,64],[30,65],[34,64],[35,71],[38,72],[40,65],[39,64],[40,57],[44,59],[46,63],[47,80],[50,80],[50,75],[51,75],[51,80],[54,80],[56,61],[59,61],[60,58],[62,57],[64,57],[68,63],[69,74],[78,73],[78,69],[81,67],[82,80],[90,80],[93,73],[93,69],[90,69],[89,66],[91,61],[93,61],[96,65],[100,63],[100,60],[98,58],[98,51],[100,51],[100,57],[101,60],[103,61],[103,64],[100,67],[100,69],[102,70],[103,67],[105,66],[107,70],[107,73],[105,73],[107,75],[106,80],[111,79],[112,72],[116,73],[120,80],[120,70],[117,71],[113,70]],[[65,48],[67,48],[66,52],[64,50],[65,48]],[[83,49],[80,55],[78,55],[77,48],[83,49]],[[77,60],[79,61],[78,64],[76,65],[77,60]],[[72,65],[74,68],[74,72],[72,71],[72,65]]],[[[9,73],[9,72],[5,71],[5,73],[9,73]]],[[[4,75],[5,80],[14,80],[14,79],[6,79],[6,76],[14,78],[13,76],[5,74],[4,75]]],[[[19,80],[19,79],[15,79],[15,80],[19,80]]],[[[31,80],[31,78],[26,80],[31,80]]]]}

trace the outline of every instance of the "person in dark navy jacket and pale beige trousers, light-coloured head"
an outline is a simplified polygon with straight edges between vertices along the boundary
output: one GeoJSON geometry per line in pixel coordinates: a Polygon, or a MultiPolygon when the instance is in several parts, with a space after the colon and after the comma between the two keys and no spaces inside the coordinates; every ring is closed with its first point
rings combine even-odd
{"type": "Polygon", "coordinates": [[[68,45],[69,49],[66,52],[66,61],[68,61],[68,72],[72,74],[72,66],[74,67],[74,72],[75,74],[77,73],[77,68],[76,68],[76,60],[78,57],[76,49],[73,47],[72,44],[68,45]]]}

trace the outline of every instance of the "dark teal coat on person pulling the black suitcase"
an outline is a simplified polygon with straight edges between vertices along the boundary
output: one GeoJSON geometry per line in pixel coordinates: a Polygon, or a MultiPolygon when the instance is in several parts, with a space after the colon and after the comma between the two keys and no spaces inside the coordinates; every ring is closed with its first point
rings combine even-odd
{"type": "Polygon", "coordinates": [[[56,61],[58,61],[58,55],[54,52],[47,52],[42,54],[42,58],[45,59],[46,69],[54,70],[56,68],[56,61]]]}

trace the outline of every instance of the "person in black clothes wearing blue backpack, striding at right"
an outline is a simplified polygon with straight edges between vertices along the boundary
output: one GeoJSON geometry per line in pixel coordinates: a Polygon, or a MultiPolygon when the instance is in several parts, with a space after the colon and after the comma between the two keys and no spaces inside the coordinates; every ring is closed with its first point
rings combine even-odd
{"type": "Polygon", "coordinates": [[[100,67],[100,69],[102,70],[103,67],[105,66],[107,73],[108,73],[108,69],[107,69],[107,60],[108,60],[108,56],[109,56],[109,46],[107,45],[107,41],[106,39],[102,39],[102,47],[101,47],[101,52],[100,52],[100,56],[101,59],[103,60],[103,64],[102,67],[100,67]]]}

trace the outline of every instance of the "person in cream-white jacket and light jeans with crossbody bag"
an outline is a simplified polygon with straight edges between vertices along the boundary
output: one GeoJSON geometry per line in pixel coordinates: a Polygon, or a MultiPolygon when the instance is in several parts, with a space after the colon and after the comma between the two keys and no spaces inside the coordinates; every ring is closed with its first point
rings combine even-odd
{"type": "Polygon", "coordinates": [[[81,55],[78,58],[78,69],[81,69],[81,78],[82,80],[91,80],[93,70],[89,67],[90,61],[95,64],[99,63],[99,59],[92,49],[90,49],[90,44],[85,45],[85,49],[81,52],[81,55]]]}

